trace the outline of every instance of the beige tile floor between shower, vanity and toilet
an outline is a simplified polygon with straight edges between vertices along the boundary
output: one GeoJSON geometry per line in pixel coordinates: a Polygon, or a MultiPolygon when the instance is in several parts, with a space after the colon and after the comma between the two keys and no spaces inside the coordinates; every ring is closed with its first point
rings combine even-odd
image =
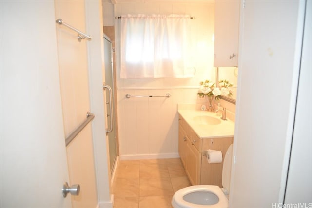
{"type": "Polygon", "coordinates": [[[114,208],[172,208],[173,194],[191,183],[180,158],[120,160],[113,184],[114,208]]]}

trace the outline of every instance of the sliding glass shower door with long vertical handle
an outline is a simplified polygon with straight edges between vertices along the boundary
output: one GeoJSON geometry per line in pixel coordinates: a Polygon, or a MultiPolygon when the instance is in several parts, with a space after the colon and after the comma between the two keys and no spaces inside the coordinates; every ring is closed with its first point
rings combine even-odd
{"type": "Polygon", "coordinates": [[[107,129],[112,128],[112,131],[108,133],[108,144],[109,144],[109,158],[111,173],[113,172],[114,163],[117,156],[116,148],[116,122],[115,122],[115,103],[114,103],[114,76],[113,76],[113,54],[112,54],[112,42],[110,38],[104,35],[104,62],[105,62],[105,85],[110,86],[112,89],[112,99],[110,94],[106,92],[106,109],[107,113],[107,129]],[[112,103],[110,103],[112,102],[112,103]]]}

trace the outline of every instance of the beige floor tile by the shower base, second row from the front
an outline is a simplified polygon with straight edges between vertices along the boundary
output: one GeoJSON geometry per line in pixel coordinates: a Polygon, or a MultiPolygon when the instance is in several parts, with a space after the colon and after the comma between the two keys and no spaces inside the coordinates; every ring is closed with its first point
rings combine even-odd
{"type": "Polygon", "coordinates": [[[138,197],[139,179],[117,178],[113,184],[115,197],[138,197]]]}

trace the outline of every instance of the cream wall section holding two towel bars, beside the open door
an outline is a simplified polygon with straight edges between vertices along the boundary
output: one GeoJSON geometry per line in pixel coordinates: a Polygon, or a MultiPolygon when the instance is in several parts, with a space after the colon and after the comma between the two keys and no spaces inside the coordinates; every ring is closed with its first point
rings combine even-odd
{"type": "MultiPolygon", "coordinates": [[[[86,33],[85,1],[55,3],[56,19],[86,33]],[[73,9],[75,8],[75,9],[73,9]]],[[[78,40],[78,33],[64,24],[57,27],[59,79],[64,133],[67,138],[86,119],[90,109],[89,66],[87,44],[78,40]]],[[[95,113],[97,116],[97,113],[95,113]]],[[[92,121],[93,122],[93,121],[92,121]]],[[[78,196],[70,196],[73,207],[94,208],[98,204],[91,122],[66,147],[71,184],[80,184],[78,196]]]]}

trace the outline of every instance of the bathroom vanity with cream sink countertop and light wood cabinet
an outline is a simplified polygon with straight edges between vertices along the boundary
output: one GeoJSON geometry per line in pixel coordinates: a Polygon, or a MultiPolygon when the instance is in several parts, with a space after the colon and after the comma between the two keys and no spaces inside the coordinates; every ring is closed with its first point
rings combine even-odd
{"type": "Polygon", "coordinates": [[[208,149],[222,152],[233,143],[234,122],[223,121],[215,112],[195,110],[179,105],[179,154],[192,183],[222,187],[222,163],[208,163],[208,149]]]}

